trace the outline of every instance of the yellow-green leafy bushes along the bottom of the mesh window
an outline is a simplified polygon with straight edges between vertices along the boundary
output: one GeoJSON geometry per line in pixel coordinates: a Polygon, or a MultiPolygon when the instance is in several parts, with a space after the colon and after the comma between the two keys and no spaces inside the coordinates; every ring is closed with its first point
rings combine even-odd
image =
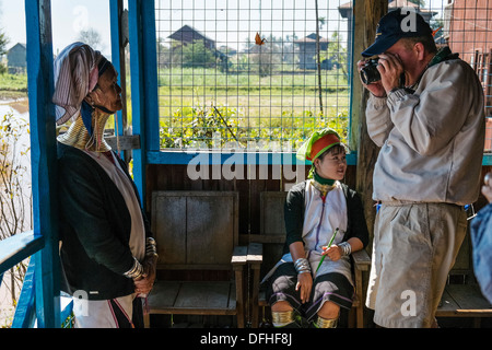
{"type": "Polygon", "coordinates": [[[215,105],[177,108],[172,118],[161,119],[161,149],[296,150],[313,130],[330,127],[347,142],[347,109],[324,116],[313,110],[301,115],[283,112],[269,125],[248,119],[241,109],[215,105]]]}

